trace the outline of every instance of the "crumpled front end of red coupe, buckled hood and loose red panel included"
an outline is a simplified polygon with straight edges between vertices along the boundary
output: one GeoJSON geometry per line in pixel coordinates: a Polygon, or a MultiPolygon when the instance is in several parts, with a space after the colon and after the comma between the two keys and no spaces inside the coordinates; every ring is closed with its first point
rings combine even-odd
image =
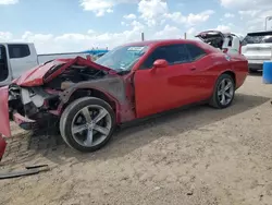
{"type": "Polygon", "coordinates": [[[11,85],[0,88],[0,134],[11,136],[10,120],[24,130],[58,128],[63,92],[82,82],[114,75],[110,71],[82,58],[55,60],[29,70],[11,85]]]}

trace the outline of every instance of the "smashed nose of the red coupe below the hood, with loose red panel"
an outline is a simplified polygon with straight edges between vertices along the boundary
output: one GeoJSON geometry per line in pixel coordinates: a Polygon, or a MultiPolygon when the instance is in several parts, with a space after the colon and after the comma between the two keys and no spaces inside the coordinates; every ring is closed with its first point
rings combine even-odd
{"type": "Polygon", "coordinates": [[[20,87],[11,84],[0,88],[0,134],[11,136],[10,121],[14,121],[24,130],[33,130],[37,123],[50,121],[52,116],[46,110],[47,100],[57,95],[47,94],[41,87],[20,87]],[[42,120],[42,121],[41,121],[42,120]]]}

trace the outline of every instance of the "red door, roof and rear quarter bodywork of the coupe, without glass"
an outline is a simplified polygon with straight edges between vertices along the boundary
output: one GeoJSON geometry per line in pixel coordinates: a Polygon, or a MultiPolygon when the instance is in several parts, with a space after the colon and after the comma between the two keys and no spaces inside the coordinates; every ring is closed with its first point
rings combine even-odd
{"type": "Polygon", "coordinates": [[[228,61],[222,51],[191,40],[151,41],[149,44],[151,49],[134,68],[137,118],[209,99],[217,79],[224,72],[235,73],[236,87],[239,87],[247,76],[247,60],[240,55],[233,55],[228,61]],[[205,49],[208,55],[195,62],[166,67],[159,60],[154,62],[154,68],[151,70],[138,70],[157,47],[183,43],[195,44],[205,49]],[[159,68],[156,64],[159,64],[159,68]]]}

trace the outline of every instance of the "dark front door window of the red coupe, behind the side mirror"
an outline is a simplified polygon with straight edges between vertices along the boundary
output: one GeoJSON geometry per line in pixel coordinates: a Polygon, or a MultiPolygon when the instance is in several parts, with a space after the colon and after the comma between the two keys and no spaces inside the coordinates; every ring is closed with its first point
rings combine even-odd
{"type": "Polygon", "coordinates": [[[153,62],[158,59],[164,59],[169,64],[178,64],[189,62],[190,57],[185,45],[171,45],[157,48],[144,62],[143,69],[151,69],[153,62]]]}

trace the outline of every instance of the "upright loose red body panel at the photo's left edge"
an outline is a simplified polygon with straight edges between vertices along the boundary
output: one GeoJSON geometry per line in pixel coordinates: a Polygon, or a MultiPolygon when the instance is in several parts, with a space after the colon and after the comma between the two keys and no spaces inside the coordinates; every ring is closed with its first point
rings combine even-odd
{"type": "Polygon", "coordinates": [[[9,118],[9,87],[0,87],[0,133],[4,136],[11,136],[9,118]]]}

